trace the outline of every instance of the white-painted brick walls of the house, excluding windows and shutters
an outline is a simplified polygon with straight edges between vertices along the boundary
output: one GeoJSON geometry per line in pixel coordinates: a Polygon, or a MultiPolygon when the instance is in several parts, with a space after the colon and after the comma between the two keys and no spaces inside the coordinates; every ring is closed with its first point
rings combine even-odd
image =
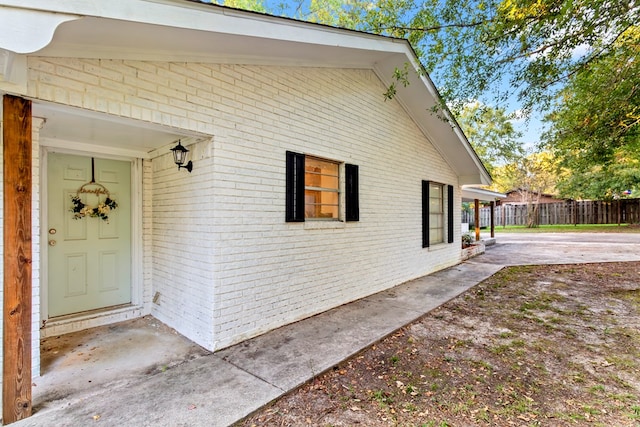
{"type": "Polygon", "coordinates": [[[459,227],[421,247],[421,180],[458,206],[457,177],[384,90],[370,70],[29,59],[33,98],[210,135],[183,140],[191,174],[144,162],[143,246],[152,314],[211,350],[459,261],[459,227]],[[286,150],[359,165],[360,221],[286,223],[286,150]]]}

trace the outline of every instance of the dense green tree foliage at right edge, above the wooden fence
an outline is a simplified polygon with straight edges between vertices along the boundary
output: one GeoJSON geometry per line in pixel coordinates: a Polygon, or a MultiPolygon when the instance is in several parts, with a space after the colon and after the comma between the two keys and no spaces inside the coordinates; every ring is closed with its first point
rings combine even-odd
{"type": "Polygon", "coordinates": [[[640,28],[576,73],[547,120],[563,194],[610,199],[640,186],[640,28]]]}

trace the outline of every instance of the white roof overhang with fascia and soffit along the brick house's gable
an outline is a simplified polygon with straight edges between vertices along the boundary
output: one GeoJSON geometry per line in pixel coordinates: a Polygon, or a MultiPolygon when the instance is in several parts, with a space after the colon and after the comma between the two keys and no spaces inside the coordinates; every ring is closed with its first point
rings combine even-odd
{"type": "MultiPolygon", "coordinates": [[[[362,68],[373,70],[384,85],[391,84],[394,71],[405,64],[422,69],[403,39],[188,0],[0,0],[0,19],[0,81],[6,91],[15,85],[16,93],[25,92],[26,54],[362,68]]],[[[489,173],[452,115],[444,111],[446,121],[430,112],[440,96],[426,73],[410,72],[408,79],[408,86],[398,85],[395,100],[456,172],[460,184],[490,184],[489,173]]],[[[57,119],[72,115],[65,113],[57,119]]],[[[104,126],[104,132],[113,127],[104,126]]],[[[67,128],[59,126],[61,132],[67,128]]]]}

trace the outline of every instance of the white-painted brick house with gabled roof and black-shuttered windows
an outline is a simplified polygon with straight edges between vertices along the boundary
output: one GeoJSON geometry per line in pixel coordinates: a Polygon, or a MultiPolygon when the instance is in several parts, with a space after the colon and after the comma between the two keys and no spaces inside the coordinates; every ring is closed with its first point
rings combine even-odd
{"type": "Polygon", "coordinates": [[[34,375],[52,334],[151,314],[217,350],[460,261],[461,185],[490,177],[427,76],[385,101],[406,41],[185,0],[0,22],[0,93],[32,107],[34,375]],[[94,175],[124,185],[108,223],[70,211],[94,175]]]}

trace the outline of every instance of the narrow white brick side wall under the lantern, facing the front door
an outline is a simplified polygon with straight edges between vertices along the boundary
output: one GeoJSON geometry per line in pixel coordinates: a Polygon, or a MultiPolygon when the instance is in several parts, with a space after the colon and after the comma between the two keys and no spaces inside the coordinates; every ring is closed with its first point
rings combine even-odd
{"type": "Polygon", "coordinates": [[[196,164],[188,173],[178,171],[171,154],[153,160],[153,292],[159,298],[152,314],[213,349],[212,159],[196,164]]]}

